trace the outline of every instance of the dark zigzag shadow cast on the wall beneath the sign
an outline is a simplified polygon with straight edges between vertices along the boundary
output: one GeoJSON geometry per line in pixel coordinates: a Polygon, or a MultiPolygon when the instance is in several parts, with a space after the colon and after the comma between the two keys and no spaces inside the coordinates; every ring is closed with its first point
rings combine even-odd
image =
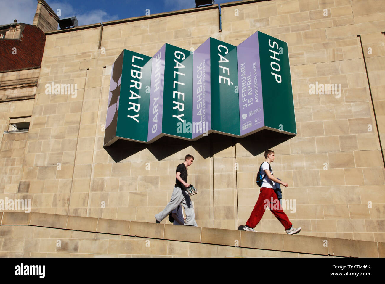
{"type": "Polygon", "coordinates": [[[234,138],[211,133],[197,141],[188,141],[164,136],[152,144],[142,144],[139,142],[119,139],[109,147],[104,147],[104,149],[116,163],[137,154],[146,148],[157,160],[163,160],[189,146],[192,146],[204,159],[206,159],[233,146],[235,143],[241,144],[253,156],[256,156],[293,137],[295,137],[295,135],[287,135],[264,129],[244,138],[234,138]]]}

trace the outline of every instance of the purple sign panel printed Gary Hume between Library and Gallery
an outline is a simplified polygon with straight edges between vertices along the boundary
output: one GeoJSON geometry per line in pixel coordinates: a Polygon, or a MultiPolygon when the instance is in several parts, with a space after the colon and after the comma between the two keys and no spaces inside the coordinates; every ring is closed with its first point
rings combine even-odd
{"type": "Polygon", "coordinates": [[[152,57],[150,111],[148,120],[147,142],[159,138],[162,133],[163,90],[164,90],[164,58],[166,45],[152,57]]]}

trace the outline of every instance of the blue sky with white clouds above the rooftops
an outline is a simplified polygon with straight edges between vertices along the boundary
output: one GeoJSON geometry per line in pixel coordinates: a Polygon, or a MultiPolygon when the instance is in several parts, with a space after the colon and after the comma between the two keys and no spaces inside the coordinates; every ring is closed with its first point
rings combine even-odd
{"type": "MultiPolygon", "coordinates": [[[[218,3],[235,0],[216,0],[218,3]]],[[[107,22],[124,18],[144,16],[146,9],[150,14],[170,12],[195,7],[195,0],[45,0],[57,12],[59,18],[76,16],[79,25],[107,22]]],[[[20,23],[32,24],[37,0],[9,0],[0,9],[0,25],[12,23],[17,19],[20,23]]]]}

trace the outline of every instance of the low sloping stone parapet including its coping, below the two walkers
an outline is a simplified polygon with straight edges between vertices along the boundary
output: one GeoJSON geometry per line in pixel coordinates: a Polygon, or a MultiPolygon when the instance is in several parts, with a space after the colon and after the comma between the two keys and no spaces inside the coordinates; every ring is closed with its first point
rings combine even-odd
{"type": "Polygon", "coordinates": [[[1,257],[383,257],[382,242],[44,213],[0,214],[1,257]]]}

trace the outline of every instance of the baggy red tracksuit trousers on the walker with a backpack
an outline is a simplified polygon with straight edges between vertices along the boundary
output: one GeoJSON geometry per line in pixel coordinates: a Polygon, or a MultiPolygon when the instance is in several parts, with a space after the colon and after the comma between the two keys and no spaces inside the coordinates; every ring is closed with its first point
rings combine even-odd
{"type": "Polygon", "coordinates": [[[246,222],[246,226],[249,228],[255,228],[266,210],[266,206],[269,206],[271,213],[281,222],[285,230],[288,230],[293,226],[289,221],[288,216],[283,212],[280,201],[278,200],[277,194],[272,188],[261,187],[257,203],[254,206],[253,212],[251,212],[249,220],[246,222]],[[273,197],[273,199],[271,199],[273,197]],[[273,204],[271,203],[273,200],[273,204]],[[279,208],[279,209],[278,209],[279,208]]]}

